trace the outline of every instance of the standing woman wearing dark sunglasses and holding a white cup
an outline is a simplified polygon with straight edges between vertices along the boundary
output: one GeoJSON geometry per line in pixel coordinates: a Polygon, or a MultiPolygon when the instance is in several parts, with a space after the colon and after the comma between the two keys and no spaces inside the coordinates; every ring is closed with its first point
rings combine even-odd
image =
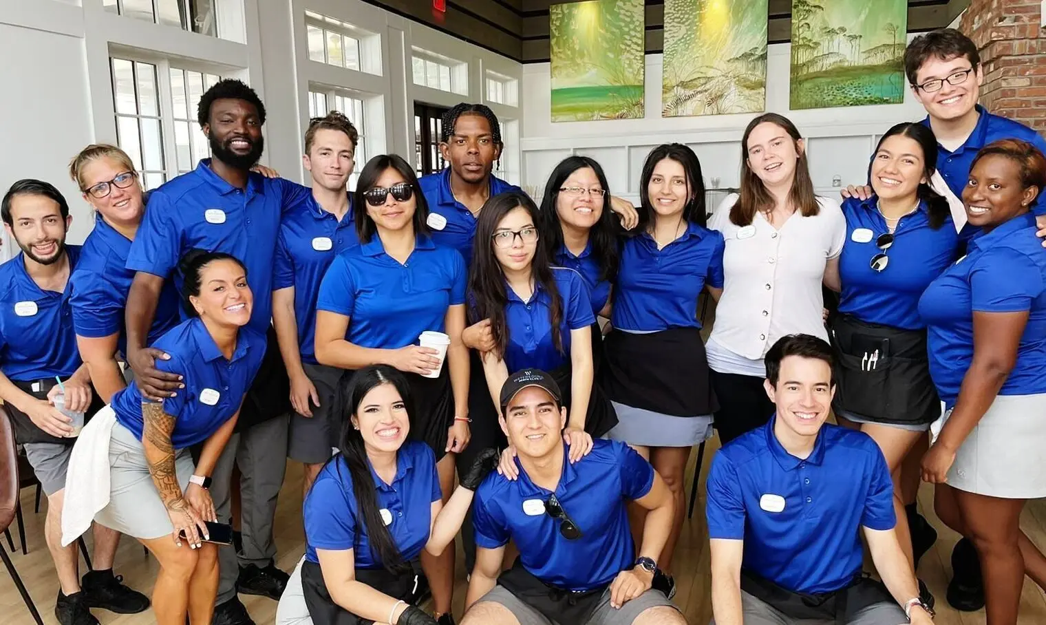
{"type": "MultiPolygon", "coordinates": [[[[356,221],[360,245],[335,259],[320,284],[316,359],[346,370],[388,364],[406,374],[418,405],[411,439],[435,453],[446,501],[454,487],[454,454],[470,438],[464,260],[429,238],[425,196],[400,156],[371,158],[353,203],[363,208],[356,221]],[[449,335],[446,358],[417,344],[425,332],[449,335]]],[[[440,623],[453,622],[454,549],[439,558],[423,554],[422,564],[440,623]]]]}

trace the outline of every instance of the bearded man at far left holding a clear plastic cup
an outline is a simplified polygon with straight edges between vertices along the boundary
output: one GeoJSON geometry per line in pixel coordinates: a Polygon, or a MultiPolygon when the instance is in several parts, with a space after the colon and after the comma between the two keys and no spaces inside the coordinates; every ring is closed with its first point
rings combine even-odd
{"type": "Polygon", "coordinates": [[[0,399],[47,495],[44,537],[59,576],[54,618],[62,625],[97,625],[91,607],[143,611],[149,599],[113,576],[117,532],[94,523],[95,570],[84,576],[83,584],[76,545],[62,546],[66,471],[79,432],[54,400],[64,394],[67,410],[88,416],[105,405],[76,350],[69,274],[81,248],[65,244],[72,221],[69,204],[47,182],[19,180],[4,195],[0,215],[22,250],[0,265],[0,399]]]}

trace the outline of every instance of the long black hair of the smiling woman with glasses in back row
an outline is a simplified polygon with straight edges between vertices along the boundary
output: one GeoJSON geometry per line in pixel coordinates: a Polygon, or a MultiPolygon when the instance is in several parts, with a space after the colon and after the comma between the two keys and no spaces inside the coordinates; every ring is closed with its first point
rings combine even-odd
{"type": "Polygon", "coordinates": [[[555,209],[560,197],[560,187],[574,172],[590,168],[599,180],[599,186],[607,192],[602,202],[602,215],[599,221],[589,229],[589,243],[592,245],[592,255],[599,264],[599,280],[614,280],[617,275],[617,242],[621,231],[620,225],[610,210],[610,185],[607,175],[599,163],[587,156],[568,156],[560,161],[548,177],[545,184],[545,196],[541,200],[541,210],[537,224],[541,238],[545,240],[545,250],[548,262],[555,264],[555,252],[563,246],[563,227],[560,225],[560,214],[555,209]]]}

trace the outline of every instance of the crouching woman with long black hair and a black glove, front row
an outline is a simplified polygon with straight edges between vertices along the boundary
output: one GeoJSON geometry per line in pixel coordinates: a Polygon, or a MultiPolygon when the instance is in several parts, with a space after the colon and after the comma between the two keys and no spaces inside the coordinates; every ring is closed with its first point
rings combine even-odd
{"type": "MultiPolygon", "coordinates": [[[[417,403],[404,374],[363,367],[346,399],[340,453],[320,470],[304,503],[301,584],[312,622],[435,625],[407,603],[417,560],[423,550],[439,555],[453,542],[497,451],[477,459],[444,506],[435,454],[409,440],[417,403]]],[[[438,621],[452,622],[450,615],[438,621]]]]}

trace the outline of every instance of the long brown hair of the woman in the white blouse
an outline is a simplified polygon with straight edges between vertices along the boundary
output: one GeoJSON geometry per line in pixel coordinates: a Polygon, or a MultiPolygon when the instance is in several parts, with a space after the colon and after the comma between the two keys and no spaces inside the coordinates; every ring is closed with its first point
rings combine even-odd
{"type": "Polygon", "coordinates": [[[763,180],[755,175],[755,172],[748,164],[748,137],[760,124],[773,124],[783,130],[792,140],[795,141],[795,151],[799,158],[795,163],[795,178],[792,180],[792,191],[789,192],[789,200],[803,217],[813,217],[820,213],[821,207],[817,204],[817,194],[814,193],[814,180],[810,177],[810,163],[806,160],[806,151],[799,149],[799,129],[792,124],[792,120],[777,113],[764,113],[755,119],[749,121],[745,129],[745,134],[741,138],[741,196],[736,203],[730,208],[730,221],[738,226],[751,225],[758,211],[770,213],[776,203],[774,197],[767,191],[763,180]]]}

